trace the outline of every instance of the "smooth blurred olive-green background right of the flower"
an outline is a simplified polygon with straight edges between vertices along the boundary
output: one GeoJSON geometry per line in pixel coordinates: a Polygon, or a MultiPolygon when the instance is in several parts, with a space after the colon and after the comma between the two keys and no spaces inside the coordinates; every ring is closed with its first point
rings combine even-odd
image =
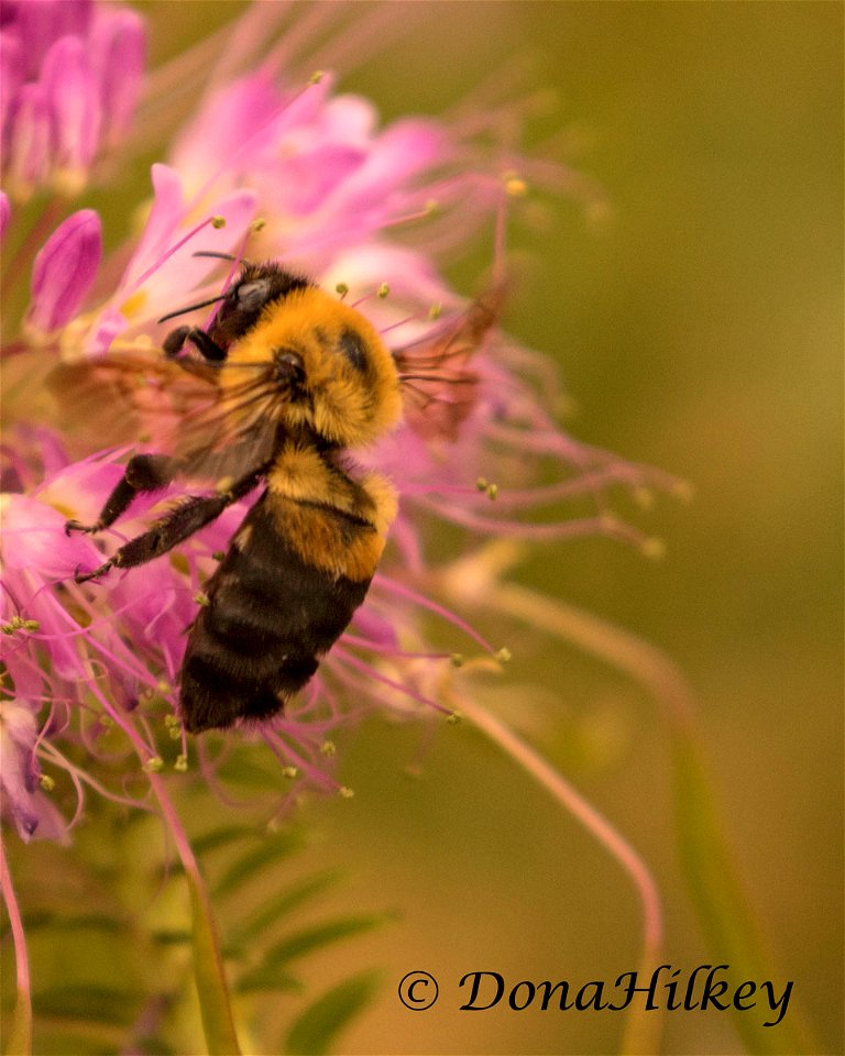
{"type": "MultiPolygon", "coordinates": [[[[139,7],[154,61],[240,9],[139,7]]],[[[571,201],[540,231],[514,228],[530,263],[507,327],[560,364],[575,436],[671,471],[695,498],[643,515],[666,541],[661,562],[584,540],[538,548],[522,575],[685,672],[776,979],[794,980],[821,1050],[841,1053],[843,8],[405,8],[409,31],[374,46],[341,88],[370,96],[385,119],[438,113],[524,62],[524,85],[557,99],[524,145],[564,130],[573,164],[610,202],[601,228],[571,201]]],[[[468,293],[478,260],[454,272],[468,293]]],[[[520,712],[512,694],[508,714],[650,865],[667,963],[712,963],[680,875],[654,703],[575,649],[529,636],[508,645],[506,681],[524,702],[520,712]]],[[[490,700],[501,694],[491,683],[490,700]]],[[[638,909],[616,865],[467,725],[429,738],[372,719],[341,752],[355,799],[308,807],[304,868],[345,872],[338,909],[399,911],[308,966],[316,991],[385,968],[342,1052],[614,1050],[617,1018],[460,1013],[457,981],[485,969],[580,985],[635,968],[638,909]],[[408,780],[416,762],[421,776],[408,780]],[[440,979],[435,1009],[398,1002],[411,969],[440,979]]],[[[299,1002],[279,997],[279,1019],[299,1002]]],[[[676,1012],[666,1050],[744,1049],[725,1015],[676,1012]]]]}

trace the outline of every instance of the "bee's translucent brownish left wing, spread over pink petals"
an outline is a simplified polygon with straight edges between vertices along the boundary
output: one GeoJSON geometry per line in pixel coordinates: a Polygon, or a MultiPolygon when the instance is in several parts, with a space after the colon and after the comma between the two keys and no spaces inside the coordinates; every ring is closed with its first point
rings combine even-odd
{"type": "Polygon", "coordinates": [[[219,386],[220,367],[161,351],[119,352],[63,363],[48,384],[69,422],[102,447],[138,443],[172,455],[177,475],[218,482],[266,463],[276,442],[277,387],[264,365],[249,364],[243,382],[219,386]]]}

